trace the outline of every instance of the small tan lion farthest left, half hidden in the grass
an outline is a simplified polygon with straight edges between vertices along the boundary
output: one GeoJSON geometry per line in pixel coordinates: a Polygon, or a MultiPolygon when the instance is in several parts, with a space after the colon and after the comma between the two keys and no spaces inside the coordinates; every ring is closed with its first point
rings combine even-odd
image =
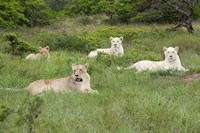
{"type": "Polygon", "coordinates": [[[40,60],[47,59],[50,60],[49,46],[39,47],[39,53],[37,54],[29,54],[26,56],[25,60],[40,60]]]}

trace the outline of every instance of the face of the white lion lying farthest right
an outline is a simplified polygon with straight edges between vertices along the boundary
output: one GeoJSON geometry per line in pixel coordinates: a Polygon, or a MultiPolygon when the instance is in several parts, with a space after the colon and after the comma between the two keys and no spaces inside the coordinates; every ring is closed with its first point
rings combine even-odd
{"type": "Polygon", "coordinates": [[[177,59],[178,50],[179,50],[179,47],[175,47],[175,48],[173,48],[173,47],[169,47],[169,48],[163,47],[165,58],[169,62],[175,61],[177,59]]]}

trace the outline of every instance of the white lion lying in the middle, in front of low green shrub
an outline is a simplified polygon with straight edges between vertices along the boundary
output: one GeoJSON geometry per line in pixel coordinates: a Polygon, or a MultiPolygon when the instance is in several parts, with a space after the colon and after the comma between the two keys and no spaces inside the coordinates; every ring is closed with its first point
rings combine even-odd
{"type": "Polygon", "coordinates": [[[122,47],[122,41],[123,37],[110,37],[111,41],[111,48],[107,49],[97,49],[94,51],[91,51],[88,54],[89,58],[96,57],[98,55],[98,52],[103,52],[108,55],[115,55],[115,56],[123,56],[124,55],[124,49],[122,47]]]}

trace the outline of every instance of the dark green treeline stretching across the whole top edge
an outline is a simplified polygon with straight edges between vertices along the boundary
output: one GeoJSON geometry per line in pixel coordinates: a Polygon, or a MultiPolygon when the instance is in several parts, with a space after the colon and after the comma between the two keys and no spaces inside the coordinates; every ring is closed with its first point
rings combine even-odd
{"type": "Polygon", "coordinates": [[[198,0],[0,0],[0,27],[50,24],[65,16],[105,14],[107,22],[175,23],[192,32],[198,0]]]}

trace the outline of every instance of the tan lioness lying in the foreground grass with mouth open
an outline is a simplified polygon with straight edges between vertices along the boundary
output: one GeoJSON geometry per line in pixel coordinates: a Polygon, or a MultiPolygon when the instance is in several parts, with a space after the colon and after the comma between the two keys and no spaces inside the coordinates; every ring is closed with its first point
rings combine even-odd
{"type": "Polygon", "coordinates": [[[46,91],[53,92],[68,92],[78,91],[83,93],[96,93],[98,91],[90,87],[90,75],[87,73],[89,64],[72,65],[73,74],[69,77],[51,79],[51,80],[37,80],[32,82],[27,90],[32,95],[41,94],[46,91]]]}

